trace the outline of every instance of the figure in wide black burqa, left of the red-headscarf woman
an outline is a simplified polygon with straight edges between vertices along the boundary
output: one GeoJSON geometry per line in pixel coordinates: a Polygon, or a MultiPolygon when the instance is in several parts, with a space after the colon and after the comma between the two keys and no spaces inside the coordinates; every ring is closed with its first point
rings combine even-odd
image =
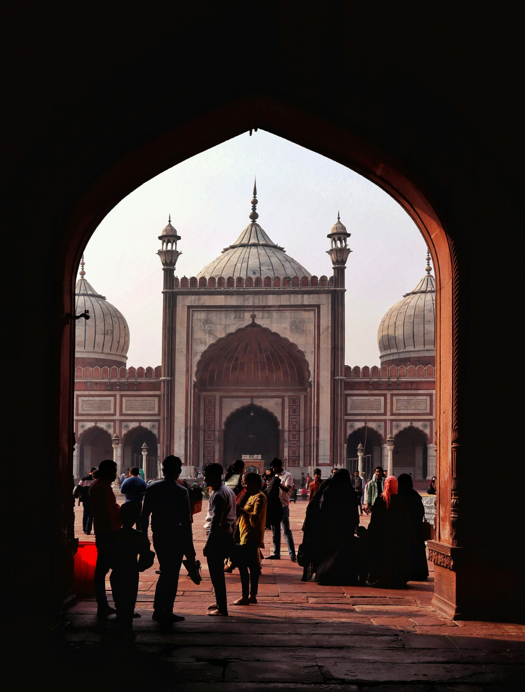
{"type": "Polygon", "coordinates": [[[332,585],[358,583],[354,532],[359,497],[346,468],[322,482],[306,508],[303,525],[303,576],[332,585]]]}

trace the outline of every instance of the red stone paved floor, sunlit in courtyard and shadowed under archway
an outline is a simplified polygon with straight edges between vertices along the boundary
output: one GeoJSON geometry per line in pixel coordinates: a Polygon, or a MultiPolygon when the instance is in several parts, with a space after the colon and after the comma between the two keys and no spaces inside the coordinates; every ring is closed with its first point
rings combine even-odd
{"type": "MultiPolygon", "coordinates": [[[[291,506],[296,548],[305,509],[306,502],[291,506]]],[[[76,535],[84,537],[81,513],[75,507],[76,535]]],[[[183,569],[175,603],[185,622],[166,629],[151,620],[157,563],[140,575],[142,617],[133,623],[132,644],[118,643],[113,617],[104,626],[96,622],[93,599],[68,610],[62,630],[68,651],[106,660],[111,689],[185,691],[210,683],[217,691],[254,692],[525,689],[525,626],[441,617],[431,605],[432,563],[429,580],[411,582],[407,590],[321,586],[300,581],[302,569],[289,560],[283,541],[281,560],[263,561],[259,603],[230,606],[228,619],[207,617],[214,597],[202,556],[204,518],[205,502],[194,517],[203,581],[196,586],[183,569]],[[115,657],[132,664],[135,674],[126,684],[122,666],[110,663],[115,657]]],[[[269,531],[266,538],[268,555],[269,531]]],[[[241,592],[238,572],[226,581],[233,601],[241,592]]]]}

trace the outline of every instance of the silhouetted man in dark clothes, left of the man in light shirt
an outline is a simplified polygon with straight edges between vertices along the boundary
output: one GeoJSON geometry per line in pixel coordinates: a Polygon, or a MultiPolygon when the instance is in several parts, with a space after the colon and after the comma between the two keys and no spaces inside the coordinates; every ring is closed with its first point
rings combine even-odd
{"type": "Polygon", "coordinates": [[[181,469],[181,459],[172,455],[166,457],[163,461],[164,478],[148,486],[142,506],[142,536],[147,538],[151,514],[153,547],[160,567],[152,617],[163,622],[184,619],[173,612],[178,573],[184,556],[188,560],[195,559],[190,497],[187,489],[177,482],[181,469]]]}

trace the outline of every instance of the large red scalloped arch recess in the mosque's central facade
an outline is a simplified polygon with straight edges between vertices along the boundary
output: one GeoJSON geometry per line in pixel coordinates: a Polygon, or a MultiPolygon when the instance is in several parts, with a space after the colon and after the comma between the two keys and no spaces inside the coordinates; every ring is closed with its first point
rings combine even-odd
{"type": "Polygon", "coordinates": [[[255,321],[217,339],[196,364],[190,415],[194,466],[231,464],[243,454],[268,465],[311,459],[313,397],[304,353],[255,321]]]}

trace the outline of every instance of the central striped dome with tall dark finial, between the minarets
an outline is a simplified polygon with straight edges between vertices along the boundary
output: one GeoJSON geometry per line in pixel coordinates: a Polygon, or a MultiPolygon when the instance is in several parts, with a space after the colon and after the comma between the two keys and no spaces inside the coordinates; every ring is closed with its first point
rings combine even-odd
{"type": "Polygon", "coordinates": [[[284,248],[275,244],[266,231],[264,231],[255,219],[259,216],[255,211],[257,190],[253,189],[252,219],[234,244],[224,248],[221,255],[213,262],[207,264],[202,271],[197,274],[197,278],[205,276],[307,276],[311,273],[306,271],[302,264],[296,262],[293,257],[286,255],[284,248]]]}

